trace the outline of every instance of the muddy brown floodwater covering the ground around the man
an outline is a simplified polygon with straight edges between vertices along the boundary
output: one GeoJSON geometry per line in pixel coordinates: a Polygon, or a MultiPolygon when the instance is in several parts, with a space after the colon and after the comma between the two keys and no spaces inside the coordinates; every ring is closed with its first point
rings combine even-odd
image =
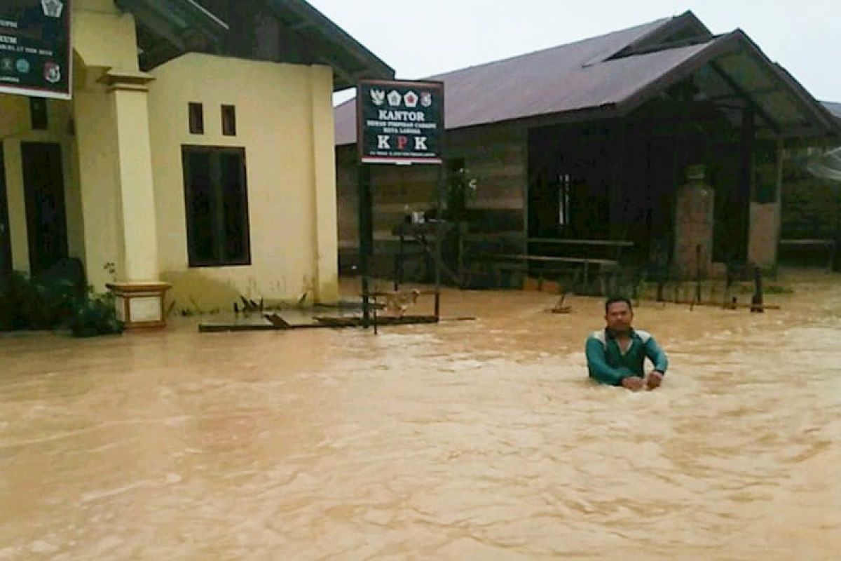
{"type": "Polygon", "coordinates": [[[600,302],[475,322],[0,337],[0,559],[832,559],[841,283],[643,303],[656,392],[584,378],[600,302]],[[773,298],[773,297],[771,297],[773,298]]]}

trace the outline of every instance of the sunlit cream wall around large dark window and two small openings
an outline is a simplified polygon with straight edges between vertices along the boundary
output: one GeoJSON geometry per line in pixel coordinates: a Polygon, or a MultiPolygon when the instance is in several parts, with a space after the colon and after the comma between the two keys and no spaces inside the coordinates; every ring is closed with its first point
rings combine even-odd
{"type": "Polygon", "coordinates": [[[300,66],[188,54],[156,68],[149,85],[161,279],[178,307],[230,309],[239,295],[335,301],[336,175],[332,76],[300,66]],[[204,135],[188,103],[204,104],[204,135]],[[236,108],[223,136],[221,105],[236,108]],[[251,265],[188,267],[182,145],[246,150],[251,265]]]}

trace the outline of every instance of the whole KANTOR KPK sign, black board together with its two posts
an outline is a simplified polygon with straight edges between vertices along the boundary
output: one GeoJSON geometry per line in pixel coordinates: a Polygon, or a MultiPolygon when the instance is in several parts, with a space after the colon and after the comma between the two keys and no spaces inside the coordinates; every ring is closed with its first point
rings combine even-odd
{"type": "MultiPolygon", "coordinates": [[[[373,255],[373,185],[370,165],[432,164],[439,166],[436,218],[442,215],[444,161],[444,84],[365,80],[357,85],[357,150],[359,152],[359,268],[362,275],[362,325],[370,317],[369,259],[373,255]]],[[[435,315],[441,294],[442,223],[436,224],[435,315]]]]}

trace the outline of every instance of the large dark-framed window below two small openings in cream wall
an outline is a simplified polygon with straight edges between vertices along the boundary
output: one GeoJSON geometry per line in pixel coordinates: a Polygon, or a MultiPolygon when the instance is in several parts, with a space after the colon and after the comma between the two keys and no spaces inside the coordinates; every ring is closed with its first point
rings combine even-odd
{"type": "Polygon", "coordinates": [[[242,148],[182,146],[190,267],[250,265],[242,148]]]}

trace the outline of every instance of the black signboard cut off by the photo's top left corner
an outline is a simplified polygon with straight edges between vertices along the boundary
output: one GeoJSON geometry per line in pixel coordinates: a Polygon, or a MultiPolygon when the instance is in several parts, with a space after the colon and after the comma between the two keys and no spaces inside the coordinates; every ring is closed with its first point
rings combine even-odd
{"type": "Polygon", "coordinates": [[[69,99],[70,0],[0,0],[0,93],[69,99]]]}

